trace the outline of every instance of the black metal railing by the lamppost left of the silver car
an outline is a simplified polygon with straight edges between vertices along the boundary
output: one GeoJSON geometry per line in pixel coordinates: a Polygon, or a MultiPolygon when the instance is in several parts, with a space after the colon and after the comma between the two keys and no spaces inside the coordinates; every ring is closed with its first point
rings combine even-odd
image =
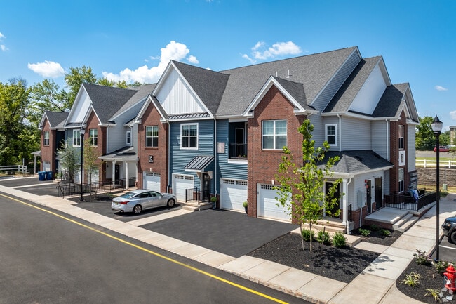
{"type": "MultiPolygon", "coordinates": [[[[93,183],[82,184],[82,194],[97,194],[98,192],[111,192],[112,190],[119,190],[125,188],[127,183],[128,187],[135,185],[136,178],[123,178],[119,180],[105,180],[93,183]]],[[[73,197],[81,195],[81,184],[69,183],[62,181],[57,183],[57,196],[58,197],[73,197]]]]}

